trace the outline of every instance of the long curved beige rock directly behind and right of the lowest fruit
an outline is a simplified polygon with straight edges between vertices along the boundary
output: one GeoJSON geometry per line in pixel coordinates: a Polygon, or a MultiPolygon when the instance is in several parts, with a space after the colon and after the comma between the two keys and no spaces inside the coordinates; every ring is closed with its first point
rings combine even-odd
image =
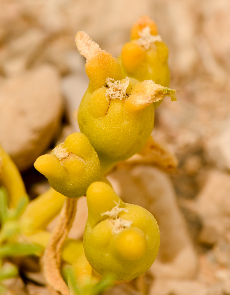
{"type": "Polygon", "coordinates": [[[139,165],[120,168],[107,178],[123,201],[148,209],[158,222],[160,249],[150,272],[160,278],[192,278],[197,257],[169,176],[139,165]]]}

